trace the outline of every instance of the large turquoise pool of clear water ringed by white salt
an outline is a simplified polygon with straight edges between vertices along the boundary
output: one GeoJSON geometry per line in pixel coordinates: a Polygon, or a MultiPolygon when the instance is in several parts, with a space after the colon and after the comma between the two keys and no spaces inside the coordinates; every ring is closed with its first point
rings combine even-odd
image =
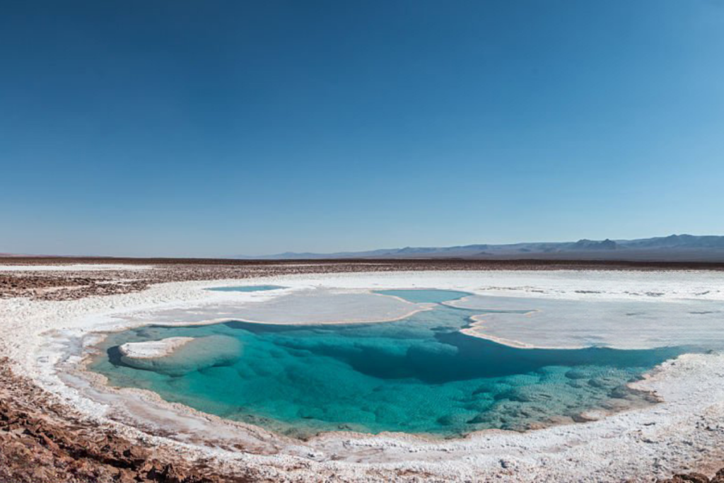
{"type": "MultiPolygon", "coordinates": [[[[464,296],[415,292],[405,298],[464,296]]],[[[626,383],[682,352],[526,350],[458,332],[481,313],[438,305],[379,324],[140,327],[109,335],[90,369],[117,387],[153,390],[172,402],[297,437],[339,429],[452,437],[644,404],[626,383]],[[119,358],[122,343],[176,336],[198,339],[150,370],[119,358]]]]}

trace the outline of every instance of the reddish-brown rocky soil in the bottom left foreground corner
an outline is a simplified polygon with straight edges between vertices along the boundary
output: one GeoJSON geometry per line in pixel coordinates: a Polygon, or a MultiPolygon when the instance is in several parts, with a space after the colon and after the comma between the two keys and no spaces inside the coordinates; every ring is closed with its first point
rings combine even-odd
{"type": "Polygon", "coordinates": [[[0,482],[256,481],[251,475],[222,476],[203,462],[178,461],[134,445],[110,428],[89,427],[7,366],[0,360],[0,482]]]}

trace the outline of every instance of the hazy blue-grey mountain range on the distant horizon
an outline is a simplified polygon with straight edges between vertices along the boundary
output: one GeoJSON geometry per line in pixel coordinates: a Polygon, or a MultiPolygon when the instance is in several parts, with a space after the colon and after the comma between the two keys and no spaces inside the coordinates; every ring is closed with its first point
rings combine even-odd
{"type": "Polygon", "coordinates": [[[578,240],[508,245],[382,248],[338,253],[277,253],[235,259],[560,259],[724,261],[724,236],[670,235],[638,240],[578,240]]]}

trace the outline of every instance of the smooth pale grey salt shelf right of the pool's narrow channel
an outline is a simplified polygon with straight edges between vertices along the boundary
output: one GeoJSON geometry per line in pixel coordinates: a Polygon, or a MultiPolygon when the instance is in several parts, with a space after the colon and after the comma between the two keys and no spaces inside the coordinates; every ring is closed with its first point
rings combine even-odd
{"type": "MultiPolygon", "coordinates": [[[[696,297],[696,296],[695,296],[696,297]]],[[[473,316],[465,333],[526,348],[620,349],[723,343],[724,307],[696,298],[611,298],[581,303],[560,298],[515,298],[473,295],[447,305],[459,308],[521,310],[522,314],[473,316]]]]}

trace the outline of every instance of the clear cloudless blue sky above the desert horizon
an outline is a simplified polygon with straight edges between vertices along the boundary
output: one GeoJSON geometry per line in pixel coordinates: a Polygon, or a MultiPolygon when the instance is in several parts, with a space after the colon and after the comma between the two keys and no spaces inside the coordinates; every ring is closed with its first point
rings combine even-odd
{"type": "Polygon", "coordinates": [[[724,234],[724,1],[5,1],[0,252],[724,234]]]}

